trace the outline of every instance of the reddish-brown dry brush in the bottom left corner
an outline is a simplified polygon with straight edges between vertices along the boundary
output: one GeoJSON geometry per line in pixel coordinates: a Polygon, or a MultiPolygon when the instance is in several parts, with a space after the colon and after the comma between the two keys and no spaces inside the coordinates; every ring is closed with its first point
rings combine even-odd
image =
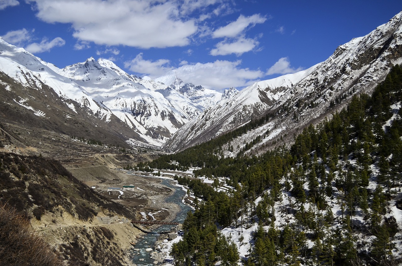
{"type": "Polygon", "coordinates": [[[62,259],[32,231],[29,220],[0,204],[0,265],[62,266],[62,259]]]}

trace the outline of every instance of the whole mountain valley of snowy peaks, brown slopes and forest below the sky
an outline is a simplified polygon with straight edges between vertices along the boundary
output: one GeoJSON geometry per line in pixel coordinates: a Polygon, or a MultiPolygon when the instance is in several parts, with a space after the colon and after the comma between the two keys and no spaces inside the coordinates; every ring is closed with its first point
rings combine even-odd
{"type": "Polygon", "coordinates": [[[146,230],[129,221],[177,213],[166,178],[195,210],[156,245],[163,265],[402,265],[401,64],[402,12],[223,93],[102,58],[60,69],[0,38],[0,214],[60,265],[132,265],[146,230]]]}

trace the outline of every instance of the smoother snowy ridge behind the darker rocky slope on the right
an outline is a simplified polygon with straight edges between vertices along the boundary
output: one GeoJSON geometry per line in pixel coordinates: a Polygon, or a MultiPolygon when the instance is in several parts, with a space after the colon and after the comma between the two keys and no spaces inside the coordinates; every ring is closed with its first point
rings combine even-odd
{"type": "Polygon", "coordinates": [[[207,141],[211,137],[247,123],[265,113],[292,88],[293,84],[300,82],[315,68],[316,65],[295,74],[256,82],[240,92],[234,88],[226,90],[221,101],[205,109],[199,117],[187,123],[164,145],[164,148],[175,151],[193,143],[194,140],[196,143],[207,141]]]}

